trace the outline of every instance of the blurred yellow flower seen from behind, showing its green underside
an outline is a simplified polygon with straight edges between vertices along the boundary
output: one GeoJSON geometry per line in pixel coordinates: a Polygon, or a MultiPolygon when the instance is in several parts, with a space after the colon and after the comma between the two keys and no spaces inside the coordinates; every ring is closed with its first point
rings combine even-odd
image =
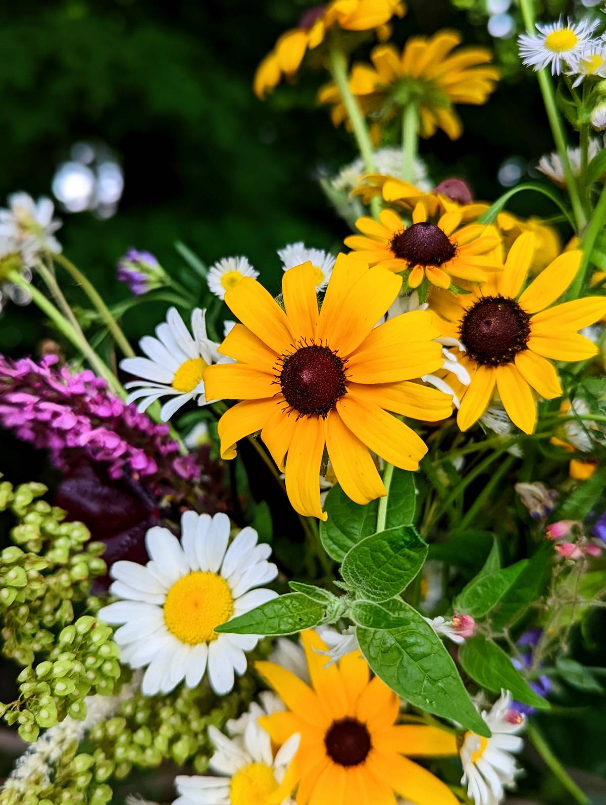
{"type": "MultiPolygon", "coordinates": [[[[448,137],[460,137],[462,126],[454,109],[457,103],[484,104],[495,89],[499,72],[486,66],[492,56],[485,47],[463,47],[458,31],[438,31],[435,35],[411,37],[402,54],[393,44],[379,45],[370,55],[370,64],[354,64],[349,86],[367,115],[389,120],[394,105],[417,102],[420,134],[431,137],[443,129],[448,137]]],[[[332,122],[346,118],[335,85],[320,89],[319,102],[333,105],[332,122]]]]}

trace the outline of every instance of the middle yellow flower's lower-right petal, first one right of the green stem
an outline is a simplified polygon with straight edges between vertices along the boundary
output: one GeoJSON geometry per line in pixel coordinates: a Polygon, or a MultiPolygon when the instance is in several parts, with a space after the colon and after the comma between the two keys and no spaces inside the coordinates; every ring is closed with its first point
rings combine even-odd
{"type": "Polygon", "coordinates": [[[382,408],[346,394],[336,410],[350,431],[367,447],[400,469],[418,469],[427,452],[420,436],[382,408]]]}

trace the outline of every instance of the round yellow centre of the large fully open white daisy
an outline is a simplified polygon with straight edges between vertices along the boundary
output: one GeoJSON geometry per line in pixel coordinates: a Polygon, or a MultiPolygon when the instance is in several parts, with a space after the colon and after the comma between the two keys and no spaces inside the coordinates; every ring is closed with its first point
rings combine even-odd
{"type": "Polygon", "coordinates": [[[233,615],[229,584],[210,572],[189,573],[172,585],[164,601],[167,630],[182,643],[196,646],[216,640],[216,626],[233,615]]]}

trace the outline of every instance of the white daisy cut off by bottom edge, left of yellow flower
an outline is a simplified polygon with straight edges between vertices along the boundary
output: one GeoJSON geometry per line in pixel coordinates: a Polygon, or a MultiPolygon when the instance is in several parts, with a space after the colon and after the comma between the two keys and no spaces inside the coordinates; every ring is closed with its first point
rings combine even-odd
{"type": "Polygon", "coordinates": [[[173,805],[266,805],[270,798],[284,796],[281,805],[295,805],[290,791],[280,786],[299,749],[299,735],[291,736],[274,754],[270,736],[258,720],[249,720],[245,732],[233,739],[216,727],[208,727],[216,752],[210,769],[220,777],[175,778],[179,798],[173,805]]]}

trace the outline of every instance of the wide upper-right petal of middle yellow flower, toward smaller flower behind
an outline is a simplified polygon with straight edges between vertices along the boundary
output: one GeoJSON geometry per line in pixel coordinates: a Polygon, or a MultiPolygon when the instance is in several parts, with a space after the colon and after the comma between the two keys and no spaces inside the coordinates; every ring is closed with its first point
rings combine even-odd
{"type": "MultiPolygon", "coordinates": [[[[331,283],[332,277],[328,290],[331,283]]],[[[377,321],[384,316],[401,287],[401,277],[384,268],[375,267],[365,270],[340,299],[336,299],[334,295],[329,297],[327,290],[319,317],[319,337],[328,341],[328,346],[338,351],[340,357],[347,357],[361,345],[377,321]],[[328,311],[323,316],[327,306],[328,311]]]]}

